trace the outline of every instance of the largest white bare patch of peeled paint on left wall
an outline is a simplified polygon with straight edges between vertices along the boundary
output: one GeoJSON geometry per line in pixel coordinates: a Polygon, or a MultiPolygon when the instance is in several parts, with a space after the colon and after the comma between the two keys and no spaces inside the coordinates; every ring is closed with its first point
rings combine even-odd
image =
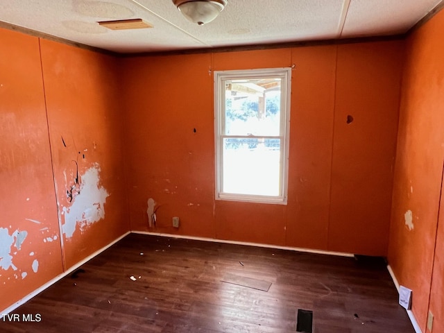
{"type": "Polygon", "coordinates": [[[95,163],[87,169],[80,184],[80,194],[75,196],[69,207],[62,207],[62,232],[71,238],[77,227],[81,232],[105,217],[105,202],[110,194],[104,187],[99,187],[100,166],[95,163]]]}

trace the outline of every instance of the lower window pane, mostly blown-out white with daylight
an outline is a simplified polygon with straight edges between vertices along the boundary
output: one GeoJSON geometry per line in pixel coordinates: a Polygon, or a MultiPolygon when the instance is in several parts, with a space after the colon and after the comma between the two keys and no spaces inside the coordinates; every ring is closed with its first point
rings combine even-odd
{"type": "Polygon", "coordinates": [[[280,139],[223,139],[224,193],[280,195],[280,139]]]}

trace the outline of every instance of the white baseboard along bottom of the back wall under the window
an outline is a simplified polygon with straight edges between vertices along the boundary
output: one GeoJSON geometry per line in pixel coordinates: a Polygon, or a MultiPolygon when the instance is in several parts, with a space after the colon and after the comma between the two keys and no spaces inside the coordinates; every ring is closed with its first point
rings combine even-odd
{"type": "Polygon", "coordinates": [[[214,243],[257,246],[259,248],[275,248],[278,250],[291,250],[291,251],[297,251],[297,252],[315,253],[317,255],[336,255],[336,256],[340,256],[340,257],[354,257],[355,256],[352,253],[345,253],[345,252],[313,250],[311,248],[293,248],[291,246],[278,246],[278,245],[270,245],[270,244],[262,244],[262,243],[249,243],[246,241],[228,241],[225,239],[214,239],[214,238],[206,238],[206,237],[182,236],[180,234],[163,234],[161,232],[132,231],[132,233],[133,234],[149,234],[151,236],[160,236],[160,237],[169,237],[169,238],[191,239],[194,241],[212,241],[214,243]]]}

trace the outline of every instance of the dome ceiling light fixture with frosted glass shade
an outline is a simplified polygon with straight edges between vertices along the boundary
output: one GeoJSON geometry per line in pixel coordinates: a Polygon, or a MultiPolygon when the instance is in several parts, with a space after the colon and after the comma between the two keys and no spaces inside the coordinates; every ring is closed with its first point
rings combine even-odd
{"type": "Polygon", "coordinates": [[[198,24],[212,22],[225,8],[227,0],[173,0],[174,5],[189,21],[198,24]]]}

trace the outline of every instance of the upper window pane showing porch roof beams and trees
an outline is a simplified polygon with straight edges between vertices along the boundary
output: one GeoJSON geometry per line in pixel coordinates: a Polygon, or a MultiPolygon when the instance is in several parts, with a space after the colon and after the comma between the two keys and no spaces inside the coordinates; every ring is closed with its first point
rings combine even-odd
{"type": "Polygon", "coordinates": [[[280,135],[281,78],[224,82],[225,135],[280,135]]]}

